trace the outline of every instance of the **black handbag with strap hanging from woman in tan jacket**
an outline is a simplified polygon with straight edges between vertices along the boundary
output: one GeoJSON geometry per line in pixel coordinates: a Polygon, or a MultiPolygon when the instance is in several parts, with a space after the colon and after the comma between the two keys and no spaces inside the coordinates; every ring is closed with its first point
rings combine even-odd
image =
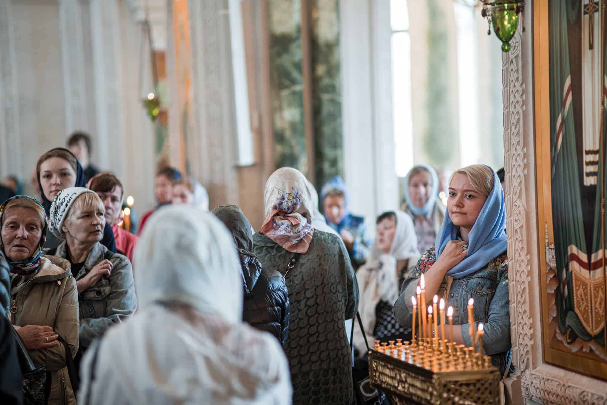
{"type": "Polygon", "coordinates": [[[46,366],[36,369],[23,341],[13,328],[13,336],[17,342],[17,358],[23,374],[23,403],[26,405],[46,405],[50,395],[50,375],[46,366]]]}

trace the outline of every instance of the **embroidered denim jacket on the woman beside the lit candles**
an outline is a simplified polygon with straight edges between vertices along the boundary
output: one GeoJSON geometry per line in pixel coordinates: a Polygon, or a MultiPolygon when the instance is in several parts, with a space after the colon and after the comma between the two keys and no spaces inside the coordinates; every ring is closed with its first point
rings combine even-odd
{"type": "MultiPolygon", "coordinates": [[[[422,254],[417,265],[402,283],[401,294],[394,304],[394,315],[401,325],[411,325],[413,304],[411,297],[419,284],[419,277],[436,262],[434,248],[422,254]]],[[[466,346],[472,347],[467,305],[474,299],[474,328],[484,325],[483,351],[492,357],[493,365],[503,373],[510,356],[510,298],[508,296],[508,260],[506,253],[491,260],[485,267],[461,279],[453,279],[449,292],[447,277],[441,283],[438,296],[445,299],[445,308],[453,307],[453,325],[460,325],[466,346]]],[[[432,302],[432,297],[426,297],[432,302]]],[[[448,322],[448,321],[446,321],[448,322]]]]}

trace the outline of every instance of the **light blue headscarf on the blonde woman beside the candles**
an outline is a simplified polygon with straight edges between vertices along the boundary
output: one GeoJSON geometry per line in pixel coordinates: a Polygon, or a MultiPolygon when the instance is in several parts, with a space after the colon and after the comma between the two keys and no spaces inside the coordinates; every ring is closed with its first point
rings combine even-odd
{"type": "MultiPolygon", "coordinates": [[[[489,166],[487,166],[489,167],[489,166]]],[[[481,209],[472,230],[468,234],[468,250],[464,260],[447,271],[449,276],[461,278],[483,268],[495,257],[506,251],[506,204],[500,179],[493,170],[493,189],[481,209]]],[[[436,235],[436,259],[443,253],[449,240],[459,239],[458,226],[453,225],[446,210],[443,225],[436,235]]]]}

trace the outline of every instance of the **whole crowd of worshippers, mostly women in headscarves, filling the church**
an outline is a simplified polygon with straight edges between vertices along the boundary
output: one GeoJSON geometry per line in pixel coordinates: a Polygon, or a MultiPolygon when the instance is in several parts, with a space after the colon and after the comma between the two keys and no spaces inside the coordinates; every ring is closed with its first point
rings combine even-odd
{"type": "Polygon", "coordinates": [[[238,206],[209,213],[202,186],[163,168],[135,236],[118,226],[120,179],[76,135],[38,159],[39,199],[5,182],[0,403],[355,404],[353,357],[365,338],[410,341],[422,274],[453,307],[458,344],[472,345],[475,300],[484,354],[509,372],[503,170],[467,166],[442,190],[415,166],[373,240],[340,177],[319,198],[278,169],[254,233],[238,206]]]}

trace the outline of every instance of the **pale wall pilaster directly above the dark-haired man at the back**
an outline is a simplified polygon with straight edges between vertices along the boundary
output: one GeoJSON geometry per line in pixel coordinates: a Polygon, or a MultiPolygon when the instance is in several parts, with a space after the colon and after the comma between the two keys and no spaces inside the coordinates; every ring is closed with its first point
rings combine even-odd
{"type": "Polygon", "coordinates": [[[66,137],[79,129],[89,131],[81,12],[80,0],[59,1],[66,137]]]}

